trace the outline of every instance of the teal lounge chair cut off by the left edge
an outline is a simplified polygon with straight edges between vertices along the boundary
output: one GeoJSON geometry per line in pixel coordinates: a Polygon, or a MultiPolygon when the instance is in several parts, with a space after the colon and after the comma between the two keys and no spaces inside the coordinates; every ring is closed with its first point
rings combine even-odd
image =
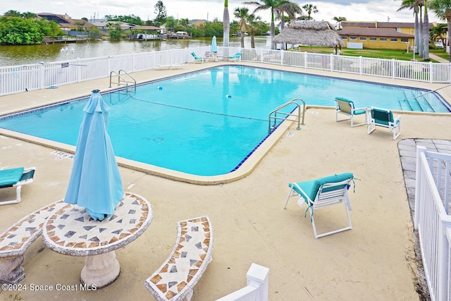
{"type": "Polygon", "coordinates": [[[16,199],[0,201],[0,205],[20,203],[20,189],[23,185],[32,183],[35,170],[35,167],[19,167],[0,171],[0,188],[16,187],[16,199]]]}

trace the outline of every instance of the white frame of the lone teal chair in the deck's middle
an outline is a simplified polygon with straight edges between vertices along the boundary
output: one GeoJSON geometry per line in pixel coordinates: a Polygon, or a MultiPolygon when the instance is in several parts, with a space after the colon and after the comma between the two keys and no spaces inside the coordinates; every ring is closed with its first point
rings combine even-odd
{"type": "Polygon", "coordinates": [[[350,210],[352,210],[352,207],[350,204],[349,196],[347,194],[347,190],[350,187],[351,181],[352,178],[348,180],[342,180],[341,182],[337,183],[325,183],[319,188],[318,192],[316,193],[316,197],[313,200],[307,196],[304,190],[302,190],[302,188],[300,188],[297,183],[291,183],[292,185],[290,188],[290,192],[288,193],[288,197],[285,201],[285,205],[283,206],[283,208],[287,207],[288,199],[290,199],[290,197],[298,197],[297,204],[299,205],[299,207],[302,207],[304,204],[307,204],[311,217],[311,226],[313,227],[315,238],[321,238],[326,235],[351,230],[352,222],[350,210]],[[299,195],[299,193],[297,193],[295,189],[304,192],[303,193],[304,196],[299,195]],[[326,208],[338,204],[345,205],[348,225],[333,231],[328,231],[325,233],[317,233],[314,219],[314,211],[317,209],[326,208]]]}

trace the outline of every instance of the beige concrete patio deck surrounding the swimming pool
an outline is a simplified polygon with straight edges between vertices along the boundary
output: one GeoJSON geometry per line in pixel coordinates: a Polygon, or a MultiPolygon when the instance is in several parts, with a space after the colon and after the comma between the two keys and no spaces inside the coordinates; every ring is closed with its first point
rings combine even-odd
{"type": "MultiPolygon", "coordinates": [[[[138,82],[214,66],[190,65],[187,70],[151,70],[135,73],[138,82]]],[[[217,64],[217,63],[216,63],[217,64]]],[[[243,63],[244,64],[244,63],[243,63]]],[[[247,64],[252,65],[252,64],[247,64]]],[[[268,65],[263,68],[313,73],[307,69],[268,65]]],[[[445,85],[314,72],[435,90],[445,85]]],[[[54,90],[0,97],[0,115],[63,99],[108,90],[109,80],[93,80],[54,90]]],[[[451,88],[439,90],[450,102],[451,88]]],[[[300,96],[302,97],[302,96],[300,96]]],[[[287,99],[290,100],[290,99],[287,99]]],[[[333,106],[333,99],[330,101],[333,106]]],[[[144,287],[170,254],[175,223],[208,215],[214,229],[213,261],[194,288],[193,300],[215,300],[246,285],[252,262],[267,266],[270,300],[419,300],[419,283],[398,142],[405,139],[451,139],[450,114],[402,113],[402,132],[394,141],[388,130],[367,135],[366,127],[335,123],[330,108],[309,108],[305,125],[278,140],[254,171],[232,183],[194,185],[151,176],[121,167],[126,191],[152,204],[154,219],[140,238],[116,251],[121,275],[96,291],[1,291],[1,300],[152,300],[144,287]],[[306,207],[293,199],[283,209],[290,181],[310,180],[333,173],[352,172],[359,178],[350,190],[352,231],[315,239],[306,207]]],[[[288,132],[287,131],[287,132],[288,132]]],[[[51,154],[48,147],[0,130],[0,168],[36,166],[35,181],[22,190],[22,202],[0,207],[0,229],[6,229],[39,207],[65,195],[73,161],[51,154]]],[[[0,190],[0,199],[13,195],[0,190]]],[[[319,228],[340,221],[339,208],[316,211],[319,228]]],[[[1,231],[0,231],[1,232],[1,231]]],[[[28,285],[75,285],[84,258],[57,254],[40,239],[25,261],[28,285]]]]}

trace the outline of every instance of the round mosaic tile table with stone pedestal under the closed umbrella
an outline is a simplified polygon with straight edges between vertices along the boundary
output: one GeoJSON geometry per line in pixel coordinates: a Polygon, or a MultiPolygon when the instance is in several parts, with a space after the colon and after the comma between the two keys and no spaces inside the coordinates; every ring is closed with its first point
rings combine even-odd
{"type": "Polygon", "coordinates": [[[42,240],[49,249],[70,256],[86,256],[81,282],[103,288],[118,278],[121,268],[114,250],[140,237],[152,222],[149,202],[125,192],[114,214],[94,221],[85,208],[66,204],[49,216],[42,240]]]}

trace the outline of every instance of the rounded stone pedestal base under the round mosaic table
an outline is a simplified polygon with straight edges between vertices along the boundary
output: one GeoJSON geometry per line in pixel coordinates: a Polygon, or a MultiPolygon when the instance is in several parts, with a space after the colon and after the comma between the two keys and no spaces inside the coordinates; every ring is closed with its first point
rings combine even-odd
{"type": "Polygon", "coordinates": [[[80,280],[90,287],[104,288],[116,281],[121,267],[116,259],[116,252],[87,256],[80,280]]]}

